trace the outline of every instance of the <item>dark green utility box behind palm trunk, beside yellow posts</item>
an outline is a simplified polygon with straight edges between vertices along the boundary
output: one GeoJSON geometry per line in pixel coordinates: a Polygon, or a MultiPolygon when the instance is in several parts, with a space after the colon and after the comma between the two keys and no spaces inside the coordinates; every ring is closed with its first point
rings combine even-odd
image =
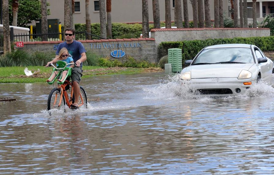
{"type": "MultiPolygon", "coordinates": [[[[59,19],[48,19],[47,20],[47,33],[59,33],[59,19]]],[[[36,20],[36,34],[42,33],[41,19],[36,20]]],[[[58,38],[58,34],[50,35],[51,38],[58,38]]]]}

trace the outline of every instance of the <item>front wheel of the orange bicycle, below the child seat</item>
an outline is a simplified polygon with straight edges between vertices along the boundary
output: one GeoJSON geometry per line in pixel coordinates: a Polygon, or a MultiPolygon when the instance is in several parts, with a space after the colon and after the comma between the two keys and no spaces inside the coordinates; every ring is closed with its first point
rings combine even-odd
{"type": "Polygon", "coordinates": [[[51,90],[51,93],[48,96],[47,99],[47,110],[51,109],[62,109],[65,108],[65,97],[64,94],[62,95],[63,97],[61,98],[61,89],[60,88],[54,88],[51,90]],[[61,101],[61,104],[59,106],[59,103],[61,101]]]}

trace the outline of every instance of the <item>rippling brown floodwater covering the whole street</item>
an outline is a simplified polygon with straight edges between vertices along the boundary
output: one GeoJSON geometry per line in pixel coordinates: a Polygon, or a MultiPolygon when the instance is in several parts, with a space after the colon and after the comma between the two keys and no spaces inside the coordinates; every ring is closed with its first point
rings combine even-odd
{"type": "Polygon", "coordinates": [[[193,98],[163,73],[81,81],[88,108],[46,111],[46,83],[0,84],[0,174],[273,174],[274,89],[193,98]]]}

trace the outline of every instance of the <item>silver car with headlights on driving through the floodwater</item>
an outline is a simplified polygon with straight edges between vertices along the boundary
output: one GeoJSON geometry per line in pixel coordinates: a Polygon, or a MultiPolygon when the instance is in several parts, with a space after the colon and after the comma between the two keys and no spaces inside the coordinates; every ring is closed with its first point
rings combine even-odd
{"type": "Polygon", "coordinates": [[[259,80],[273,84],[273,61],[254,45],[208,46],[185,64],[189,66],[181,71],[180,78],[190,81],[190,91],[195,94],[244,94],[259,80]]]}

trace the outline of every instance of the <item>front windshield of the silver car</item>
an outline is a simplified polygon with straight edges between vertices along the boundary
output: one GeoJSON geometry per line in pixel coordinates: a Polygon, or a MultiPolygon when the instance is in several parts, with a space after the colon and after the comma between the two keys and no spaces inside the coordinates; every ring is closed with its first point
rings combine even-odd
{"type": "Polygon", "coordinates": [[[204,49],[193,64],[254,63],[250,48],[204,49]]]}

